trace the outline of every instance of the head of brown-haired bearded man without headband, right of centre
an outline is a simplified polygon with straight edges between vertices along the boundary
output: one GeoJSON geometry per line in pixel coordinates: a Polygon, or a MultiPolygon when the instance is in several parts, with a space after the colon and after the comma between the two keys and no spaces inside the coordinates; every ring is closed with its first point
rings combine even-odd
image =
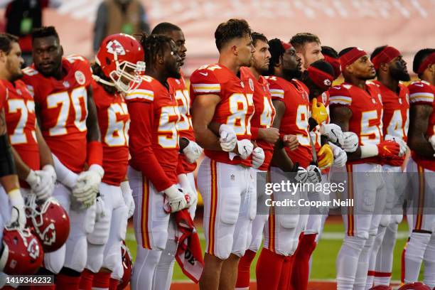
{"type": "Polygon", "coordinates": [[[316,60],[323,60],[321,41],[313,33],[296,33],[289,43],[293,45],[302,61],[301,70],[304,71],[316,60]]]}

